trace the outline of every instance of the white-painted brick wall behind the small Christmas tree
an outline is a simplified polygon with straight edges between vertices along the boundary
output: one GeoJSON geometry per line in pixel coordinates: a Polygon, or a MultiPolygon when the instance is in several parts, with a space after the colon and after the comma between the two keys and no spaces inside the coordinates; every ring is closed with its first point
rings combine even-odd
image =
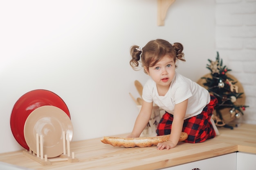
{"type": "Polygon", "coordinates": [[[243,85],[240,121],[256,124],[256,0],[216,0],[216,50],[243,85]]]}

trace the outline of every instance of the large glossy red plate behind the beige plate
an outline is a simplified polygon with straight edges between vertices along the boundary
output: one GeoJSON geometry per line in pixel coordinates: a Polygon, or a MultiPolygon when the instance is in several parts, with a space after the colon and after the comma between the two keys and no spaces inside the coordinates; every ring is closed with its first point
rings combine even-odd
{"type": "Polygon", "coordinates": [[[27,117],[36,108],[47,105],[62,109],[70,118],[70,112],[65,102],[57,94],[49,90],[32,90],[22,95],[14,104],[10,118],[11,132],[23,148],[29,150],[24,137],[24,125],[27,117]]]}

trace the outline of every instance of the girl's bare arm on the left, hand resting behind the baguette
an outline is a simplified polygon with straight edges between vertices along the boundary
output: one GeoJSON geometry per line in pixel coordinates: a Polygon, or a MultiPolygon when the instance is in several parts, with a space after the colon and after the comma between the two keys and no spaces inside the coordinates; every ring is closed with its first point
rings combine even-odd
{"type": "Polygon", "coordinates": [[[141,132],[144,130],[148,121],[150,120],[153,108],[153,102],[146,102],[143,100],[139,115],[135,121],[132,133],[127,137],[139,137],[141,132]]]}

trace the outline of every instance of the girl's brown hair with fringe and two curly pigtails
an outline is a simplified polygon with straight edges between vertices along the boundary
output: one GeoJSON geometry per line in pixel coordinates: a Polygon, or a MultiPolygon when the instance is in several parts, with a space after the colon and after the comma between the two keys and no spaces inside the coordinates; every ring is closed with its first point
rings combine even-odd
{"type": "MultiPolygon", "coordinates": [[[[139,49],[139,46],[132,46],[130,48],[130,55],[132,59],[130,60],[130,65],[133,70],[139,70],[139,61],[141,66],[148,69],[154,66],[158,61],[160,61],[165,55],[169,55],[173,58],[176,63],[177,60],[186,61],[184,57],[183,46],[180,43],[170,44],[168,41],[163,39],[156,39],[149,41],[146,46],[139,49]]],[[[175,68],[177,65],[175,64],[175,68]]],[[[147,74],[146,70],[144,72],[147,74]]]]}

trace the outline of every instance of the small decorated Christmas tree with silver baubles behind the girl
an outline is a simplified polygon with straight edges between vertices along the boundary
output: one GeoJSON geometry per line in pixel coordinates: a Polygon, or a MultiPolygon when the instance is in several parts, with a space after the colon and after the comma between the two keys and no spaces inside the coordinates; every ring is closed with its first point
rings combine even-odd
{"type": "Polygon", "coordinates": [[[219,53],[217,52],[216,61],[211,61],[208,59],[210,64],[207,64],[207,68],[211,71],[211,78],[202,77],[206,80],[204,86],[208,88],[208,91],[213,94],[218,99],[218,104],[214,108],[216,111],[215,120],[220,120],[216,122],[217,126],[226,126],[233,129],[225,124],[225,120],[222,117],[222,110],[229,108],[229,113],[231,118],[240,118],[241,114],[246,107],[245,105],[237,104],[237,99],[241,98],[243,92],[238,92],[237,82],[234,82],[232,78],[229,77],[227,72],[231,71],[225,66],[222,67],[222,59],[220,60],[219,53]],[[234,104],[236,103],[236,105],[234,104]]]}

